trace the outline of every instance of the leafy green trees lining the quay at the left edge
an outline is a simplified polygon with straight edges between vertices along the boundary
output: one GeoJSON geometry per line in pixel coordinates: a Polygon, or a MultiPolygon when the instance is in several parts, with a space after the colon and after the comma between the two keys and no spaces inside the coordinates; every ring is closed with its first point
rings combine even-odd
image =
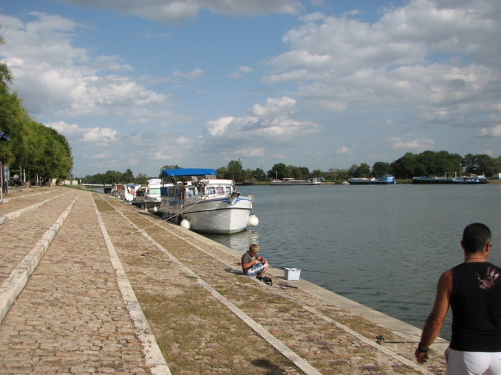
{"type": "MultiPolygon", "coordinates": [[[[0,36],[0,45],[4,41],[0,36]]],[[[73,169],[71,147],[65,136],[34,121],[21,99],[11,93],[13,77],[5,62],[0,63],[0,131],[9,141],[0,142],[0,162],[11,173],[25,173],[27,180],[63,179],[73,169]]]]}

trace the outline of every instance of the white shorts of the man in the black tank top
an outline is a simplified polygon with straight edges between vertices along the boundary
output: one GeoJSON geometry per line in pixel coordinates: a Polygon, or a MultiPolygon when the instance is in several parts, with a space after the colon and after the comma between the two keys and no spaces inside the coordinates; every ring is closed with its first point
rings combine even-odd
{"type": "Polygon", "coordinates": [[[501,352],[445,349],[445,375],[501,375],[501,352]]]}

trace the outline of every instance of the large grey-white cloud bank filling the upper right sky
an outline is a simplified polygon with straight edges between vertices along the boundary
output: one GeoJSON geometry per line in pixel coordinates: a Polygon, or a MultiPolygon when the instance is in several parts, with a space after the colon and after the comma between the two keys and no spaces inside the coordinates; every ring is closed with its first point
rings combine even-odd
{"type": "Polygon", "coordinates": [[[430,125],[464,127],[495,117],[499,1],[411,0],[382,12],[375,23],[303,16],[263,81],[292,82],[298,98],[330,112],[413,108],[430,125]]]}

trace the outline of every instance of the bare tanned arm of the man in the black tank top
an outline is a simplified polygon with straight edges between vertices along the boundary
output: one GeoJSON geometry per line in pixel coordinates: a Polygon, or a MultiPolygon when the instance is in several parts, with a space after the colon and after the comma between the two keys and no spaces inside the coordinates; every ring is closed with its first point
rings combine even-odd
{"type": "Polygon", "coordinates": [[[428,346],[432,345],[436,337],[439,335],[443,326],[443,321],[450,305],[450,296],[454,287],[454,278],[452,271],[445,271],[439,278],[436,285],[436,297],[433,304],[433,309],[426,323],[424,324],[423,332],[421,333],[421,341],[414,353],[418,363],[424,363],[428,359],[428,346]]]}

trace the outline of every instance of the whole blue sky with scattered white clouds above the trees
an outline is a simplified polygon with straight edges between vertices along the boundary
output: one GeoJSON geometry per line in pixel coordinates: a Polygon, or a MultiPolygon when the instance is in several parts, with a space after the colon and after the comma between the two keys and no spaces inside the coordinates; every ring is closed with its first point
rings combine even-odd
{"type": "Polygon", "coordinates": [[[77,177],[501,155],[499,0],[2,0],[0,25],[77,177]]]}

